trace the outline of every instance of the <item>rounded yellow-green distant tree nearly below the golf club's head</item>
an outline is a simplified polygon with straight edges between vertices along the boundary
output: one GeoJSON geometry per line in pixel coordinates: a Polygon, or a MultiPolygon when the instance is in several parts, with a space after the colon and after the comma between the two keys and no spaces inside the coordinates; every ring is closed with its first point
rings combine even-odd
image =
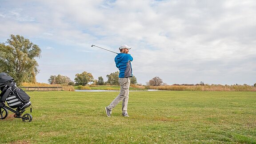
{"type": "Polygon", "coordinates": [[[89,82],[93,82],[93,76],[89,72],[77,73],[75,77],[76,85],[86,85],[89,82]]]}

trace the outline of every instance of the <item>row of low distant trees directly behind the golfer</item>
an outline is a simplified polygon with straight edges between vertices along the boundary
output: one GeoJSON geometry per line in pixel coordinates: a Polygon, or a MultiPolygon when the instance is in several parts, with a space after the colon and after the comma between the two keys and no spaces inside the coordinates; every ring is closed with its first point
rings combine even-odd
{"type": "MultiPolygon", "coordinates": [[[[118,85],[118,76],[119,72],[112,72],[106,77],[108,80],[105,82],[102,76],[98,77],[98,80],[95,80],[92,76],[92,73],[90,72],[82,72],[77,73],[75,77],[75,82],[72,82],[69,77],[67,76],[50,76],[48,79],[49,84],[68,84],[68,85],[87,85],[89,83],[96,84],[96,85],[118,85]]],[[[132,76],[131,78],[131,84],[137,84],[137,80],[135,76],[132,76]]]]}

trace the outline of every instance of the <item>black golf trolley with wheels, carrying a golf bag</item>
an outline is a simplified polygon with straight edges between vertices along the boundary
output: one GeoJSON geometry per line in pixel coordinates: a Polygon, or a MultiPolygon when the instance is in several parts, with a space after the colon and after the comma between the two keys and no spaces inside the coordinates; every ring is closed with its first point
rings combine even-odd
{"type": "Polygon", "coordinates": [[[5,72],[0,73],[0,90],[0,119],[5,119],[9,110],[15,113],[15,118],[21,118],[24,122],[31,122],[31,114],[26,113],[22,116],[28,107],[32,112],[30,97],[21,88],[17,88],[14,79],[5,72]],[[9,107],[5,104],[5,101],[9,107]],[[16,110],[12,108],[16,108],[16,110]]]}

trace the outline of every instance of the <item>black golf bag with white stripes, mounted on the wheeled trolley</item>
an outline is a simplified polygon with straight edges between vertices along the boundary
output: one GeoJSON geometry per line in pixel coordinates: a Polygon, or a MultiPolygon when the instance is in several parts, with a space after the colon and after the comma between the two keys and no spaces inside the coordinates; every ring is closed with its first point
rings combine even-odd
{"type": "Polygon", "coordinates": [[[0,90],[0,103],[6,101],[10,108],[17,108],[21,111],[31,105],[28,94],[18,88],[14,79],[5,72],[0,73],[0,90]]]}

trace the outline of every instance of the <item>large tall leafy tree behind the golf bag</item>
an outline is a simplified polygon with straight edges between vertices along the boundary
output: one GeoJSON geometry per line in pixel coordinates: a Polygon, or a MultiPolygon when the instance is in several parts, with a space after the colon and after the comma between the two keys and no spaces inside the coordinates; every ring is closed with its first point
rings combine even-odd
{"type": "Polygon", "coordinates": [[[20,35],[10,35],[6,43],[0,44],[0,71],[12,76],[17,85],[36,82],[41,49],[20,35]]]}

